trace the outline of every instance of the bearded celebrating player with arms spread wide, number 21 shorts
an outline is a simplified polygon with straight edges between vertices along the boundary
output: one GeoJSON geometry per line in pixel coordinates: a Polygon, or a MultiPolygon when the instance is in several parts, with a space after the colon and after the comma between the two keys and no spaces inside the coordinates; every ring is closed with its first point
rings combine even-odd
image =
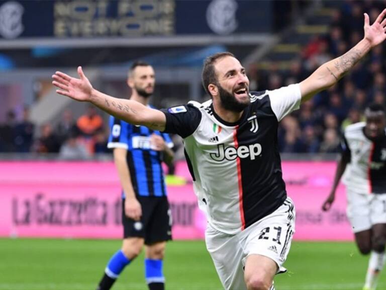
{"type": "Polygon", "coordinates": [[[167,110],[119,100],[57,71],[57,93],[88,101],[129,123],[177,133],[199,206],[206,212],[206,244],[226,289],[273,289],[294,233],[294,205],[287,198],[277,149],[278,122],[301,102],[334,85],[385,38],[386,9],[344,55],[322,64],[299,84],[249,92],[245,68],[229,52],[207,58],[203,84],[211,99],[167,110]]]}

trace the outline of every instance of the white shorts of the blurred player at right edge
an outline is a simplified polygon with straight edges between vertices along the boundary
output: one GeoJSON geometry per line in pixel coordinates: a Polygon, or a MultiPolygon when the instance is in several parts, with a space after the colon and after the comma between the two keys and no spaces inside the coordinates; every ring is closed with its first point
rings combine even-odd
{"type": "Polygon", "coordinates": [[[354,233],[375,224],[386,224],[386,194],[360,194],[347,191],[347,218],[354,233]]]}

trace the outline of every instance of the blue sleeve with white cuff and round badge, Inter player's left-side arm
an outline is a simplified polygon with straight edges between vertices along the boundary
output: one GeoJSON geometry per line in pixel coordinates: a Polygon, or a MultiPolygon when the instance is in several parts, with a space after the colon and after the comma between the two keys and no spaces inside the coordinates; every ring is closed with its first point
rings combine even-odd
{"type": "Polygon", "coordinates": [[[130,128],[128,123],[110,116],[110,136],[107,143],[107,148],[128,149],[129,130],[130,128]]]}

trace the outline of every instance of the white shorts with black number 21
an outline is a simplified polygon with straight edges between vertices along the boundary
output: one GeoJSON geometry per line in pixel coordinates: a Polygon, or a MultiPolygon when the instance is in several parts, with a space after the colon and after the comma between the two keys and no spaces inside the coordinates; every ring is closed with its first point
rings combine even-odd
{"type": "Polygon", "coordinates": [[[291,198],[265,218],[236,235],[227,235],[210,225],[205,233],[207,249],[225,289],[244,290],[246,258],[258,254],[272,259],[282,267],[295,232],[295,208],[291,198]]]}

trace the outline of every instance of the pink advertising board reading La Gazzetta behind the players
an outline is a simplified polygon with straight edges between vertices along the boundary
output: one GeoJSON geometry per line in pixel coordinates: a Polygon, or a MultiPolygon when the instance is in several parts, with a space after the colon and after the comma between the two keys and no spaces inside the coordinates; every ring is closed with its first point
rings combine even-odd
{"type": "MultiPolygon", "coordinates": [[[[288,195],[297,209],[296,240],[352,240],[344,187],[332,209],[321,211],[335,162],[283,162],[288,195]]],[[[174,239],[203,239],[206,219],[198,209],[186,164],[169,182],[174,239]],[[183,180],[184,182],[180,182],[183,180]]],[[[121,187],[112,162],[0,162],[0,236],[122,238],[121,187]]]]}

